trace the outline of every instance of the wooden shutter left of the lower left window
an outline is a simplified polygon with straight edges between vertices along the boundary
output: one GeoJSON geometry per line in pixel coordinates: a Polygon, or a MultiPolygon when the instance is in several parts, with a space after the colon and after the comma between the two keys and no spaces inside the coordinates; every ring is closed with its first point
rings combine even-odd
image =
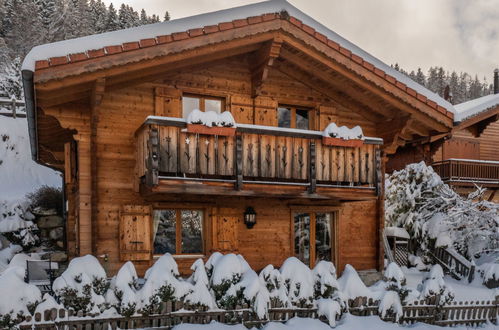
{"type": "Polygon", "coordinates": [[[124,205],[120,216],[121,261],[151,260],[151,207],[124,205]]]}

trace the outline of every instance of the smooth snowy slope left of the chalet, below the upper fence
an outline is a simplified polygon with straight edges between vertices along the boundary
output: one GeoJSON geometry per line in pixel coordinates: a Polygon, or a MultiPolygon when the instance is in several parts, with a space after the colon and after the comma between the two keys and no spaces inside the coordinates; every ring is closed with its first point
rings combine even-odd
{"type": "MultiPolygon", "coordinates": [[[[31,159],[28,123],[0,116],[0,199],[16,201],[43,185],[59,187],[61,175],[31,159]]],[[[1,208],[1,206],[0,206],[1,208]]]]}

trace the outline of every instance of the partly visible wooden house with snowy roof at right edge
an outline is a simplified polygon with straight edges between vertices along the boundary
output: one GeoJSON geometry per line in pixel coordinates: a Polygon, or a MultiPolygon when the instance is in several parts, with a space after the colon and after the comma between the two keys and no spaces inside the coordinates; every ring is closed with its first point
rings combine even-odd
{"type": "Polygon", "coordinates": [[[457,104],[451,137],[436,149],[433,167],[458,192],[487,188],[485,198],[499,202],[499,77],[494,94],[457,104]]]}

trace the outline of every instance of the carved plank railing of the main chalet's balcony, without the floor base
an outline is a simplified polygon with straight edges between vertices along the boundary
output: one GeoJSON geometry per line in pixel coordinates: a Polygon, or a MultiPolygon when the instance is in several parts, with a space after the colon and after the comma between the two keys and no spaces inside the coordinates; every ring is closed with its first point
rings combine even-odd
{"type": "Polygon", "coordinates": [[[322,132],[238,125],[235,136],[187,132],[183,119],[149,117],[137,130],[137,175],[161,179],[378,188],[382,139],[326,146],[322,132]]]}

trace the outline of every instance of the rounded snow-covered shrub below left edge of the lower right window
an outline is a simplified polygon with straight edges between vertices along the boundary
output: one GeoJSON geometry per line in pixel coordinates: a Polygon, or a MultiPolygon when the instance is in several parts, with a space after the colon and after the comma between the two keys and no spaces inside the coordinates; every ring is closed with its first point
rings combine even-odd
{"type": "Polygon", "coordinates": [[[312,306],[315,282],[310,268],[298,258],[290,257],[280,271],[291,303],[298,307],[312,306]]]}

